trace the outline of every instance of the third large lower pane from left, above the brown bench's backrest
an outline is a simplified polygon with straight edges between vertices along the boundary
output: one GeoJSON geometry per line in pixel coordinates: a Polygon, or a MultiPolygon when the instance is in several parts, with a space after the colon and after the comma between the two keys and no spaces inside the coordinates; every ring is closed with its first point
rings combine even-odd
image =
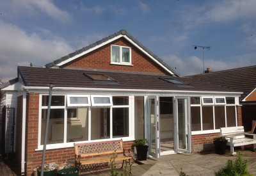
{"type": "Polygon", "coordinates": [[[110,108],[92,108],[91,138],[92,140],[107,139],[110,135],[110,108]]]}

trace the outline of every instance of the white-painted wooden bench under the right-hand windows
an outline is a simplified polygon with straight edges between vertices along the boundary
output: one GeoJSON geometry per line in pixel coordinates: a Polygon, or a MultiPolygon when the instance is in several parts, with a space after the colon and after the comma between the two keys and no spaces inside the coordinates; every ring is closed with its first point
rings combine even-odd
{"type": "Polygon", "coordinates": [[[220,135],[225,136],[228,140],[227,145],[230,145],[230,155],[234,153],[234,147],[237,146],[241,146],[242,150],[244,150],[244,145],[253,144],[253,149],[256,147],[256,134],[245,133],[243,126],[220,128],[220,135]],[[251,138],[246,136],[251,136],[251,138]]]}

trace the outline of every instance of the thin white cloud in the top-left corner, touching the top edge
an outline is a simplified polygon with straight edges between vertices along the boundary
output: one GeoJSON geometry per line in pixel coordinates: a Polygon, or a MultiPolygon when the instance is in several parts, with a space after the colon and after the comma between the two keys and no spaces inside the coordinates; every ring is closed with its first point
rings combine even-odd
{"type": "Polygon", "coordinates": [[[58,8],[51,0],[8,0],[1,4],[6,13],[6,17],[22,17],[25,14],[33,17],[38,14],[38,9],[46,13],[55,20],[68,22],[72,20],[72,15],[65,10],[58,8]]]}

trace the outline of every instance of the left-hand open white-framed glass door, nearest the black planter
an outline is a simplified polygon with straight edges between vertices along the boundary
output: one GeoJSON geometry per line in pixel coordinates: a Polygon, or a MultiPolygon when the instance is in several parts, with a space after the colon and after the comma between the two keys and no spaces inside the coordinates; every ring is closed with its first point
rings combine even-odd
{"type": "Polygon", "coordinates": [[[149,140],[148,154],[159,158],[159,108],[158,98],[148,97],[148,123],[149,123],[149,140]]]}

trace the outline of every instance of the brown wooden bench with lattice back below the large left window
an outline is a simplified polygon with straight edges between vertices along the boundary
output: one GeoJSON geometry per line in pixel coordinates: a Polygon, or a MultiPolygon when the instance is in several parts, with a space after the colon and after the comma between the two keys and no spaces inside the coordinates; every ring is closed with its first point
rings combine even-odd
{"type": "Polygon", "coordinates": [[[115,152],[119,154],[115,158],[115,161],[123,161],[122,168],[124,162],[131,164],[131,159],[133,160],[131,150],[124,149],[122,140],[74,143],[74,147],[76,156],[75,163],[76,167],[79,168],[79,173],[81,173],[81,167],[85,168],[85,165],[109,163],[115,152]],[[125,151],[128,152],[128,156],[125,154],[125,151]]]}

